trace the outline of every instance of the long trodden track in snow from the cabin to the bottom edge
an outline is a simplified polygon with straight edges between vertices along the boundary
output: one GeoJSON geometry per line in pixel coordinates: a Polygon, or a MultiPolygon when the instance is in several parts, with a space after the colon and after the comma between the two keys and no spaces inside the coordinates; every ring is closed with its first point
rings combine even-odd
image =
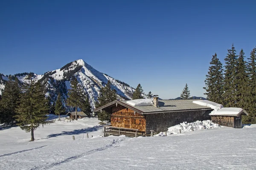
{"type": "Polygon", "coordinates": [[[55,167],[55,166],[58,166],[60,164],[67,163],[67,162],[79,159],[81,157],[85,157],[85,156],[91,155],[91,154],[93,154],[95,152],[98,152],[98,151],[106,150],[106,149],[109,149],[109,148],[112,148],[112,147],[118,147],[118,146],[116,146],[116,144],[124,141],[125,139],[127,139],[127,138],[120,139],[118,141],[113,140],[113,142],[111,144],[105,145],[103,147],[100,147],[100,148],[97,148],[97,149],[93,149],[93,150],[89,150],[89,151],[87,151],[85,153],[81,153],[79,155],[72,156],[72,157],[69,157],[67,159],[64,159],[63,161],[58,161],[58,162],[55,162],[55,163],[52,163],[52,164],[49,164],[49,165],[45,165],[45,166],[35,167],[35,168],[30,169],[30,170],[48,170],[48,169],[50,169],[52,167],[55,167]]]}

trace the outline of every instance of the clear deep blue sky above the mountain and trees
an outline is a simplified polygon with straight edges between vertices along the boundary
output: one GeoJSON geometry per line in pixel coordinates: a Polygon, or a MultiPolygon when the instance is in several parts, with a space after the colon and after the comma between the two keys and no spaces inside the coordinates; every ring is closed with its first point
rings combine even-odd
{"type": "Polygon", "coordinates": [[[212,55],[256,45],[255,0],[1,0],[0,73],[83,59],[162,99],[204,96],[212,55]]]}

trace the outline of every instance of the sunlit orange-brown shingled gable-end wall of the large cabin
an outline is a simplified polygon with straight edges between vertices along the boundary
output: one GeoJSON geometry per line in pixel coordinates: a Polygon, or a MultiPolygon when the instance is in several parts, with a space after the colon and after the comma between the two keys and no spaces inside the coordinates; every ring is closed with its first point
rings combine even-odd
{"type": "Polygon", "coordinates": [[[133,110],[117,105],[117,107],[112,107],[111,125],[138,129],[140,132],[145,132],[146,120],[140,113],[134,114],[133,110]]]}

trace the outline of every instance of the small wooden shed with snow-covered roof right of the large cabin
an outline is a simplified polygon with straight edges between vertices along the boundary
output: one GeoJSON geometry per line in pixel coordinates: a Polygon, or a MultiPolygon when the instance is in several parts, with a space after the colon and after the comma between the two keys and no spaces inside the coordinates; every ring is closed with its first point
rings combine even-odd
{"type": "Polygon", "coordinates": [[[221,108],[209,114],[211,120],[222,126],[242,128],[242,115],[248,115],[242,108],[221,108]]]}

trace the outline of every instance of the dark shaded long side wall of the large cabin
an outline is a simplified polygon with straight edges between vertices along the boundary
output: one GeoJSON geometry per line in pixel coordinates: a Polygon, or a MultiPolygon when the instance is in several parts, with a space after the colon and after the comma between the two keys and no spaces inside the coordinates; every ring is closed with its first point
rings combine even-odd
{"type": "Polygon", "coordinates": [[[210,119],[209,115],[205,115],[204,113],[205,111],[180,111],[146,114],[146,133],[151,133],[150,130],[154,130],[157,133],[164,132],[168,130],[168,127],[178,125],[182,122],[210,119]]]}

